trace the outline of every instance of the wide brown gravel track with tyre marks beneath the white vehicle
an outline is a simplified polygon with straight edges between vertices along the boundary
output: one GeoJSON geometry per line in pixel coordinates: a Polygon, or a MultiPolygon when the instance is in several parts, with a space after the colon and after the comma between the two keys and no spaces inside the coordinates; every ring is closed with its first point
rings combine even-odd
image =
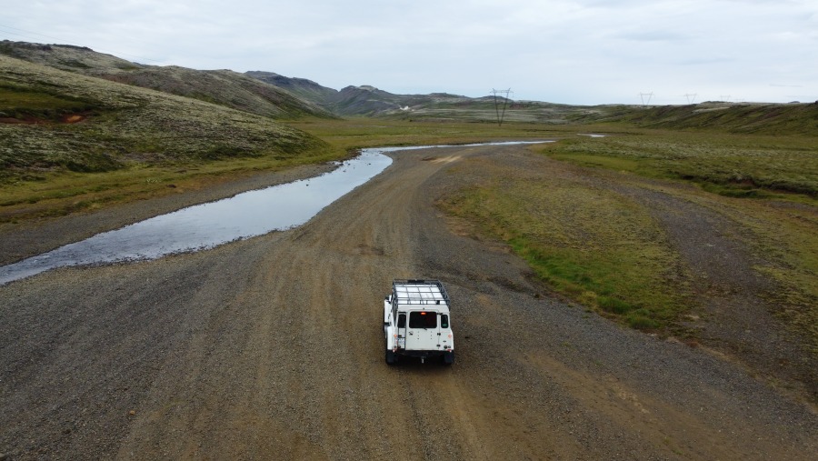
{"type": "MultiPolygon", "coordinates": [[[[741,369],[565,306],[434,208],[397,153],[307,225],[0,287],[10,459],[813,459],[818,416],[741,369]],[[441,278],[456,363],[384,364],[395,277],[441,278]]],[[[430,160],[431,157],[434,159],[430,160]]]]}

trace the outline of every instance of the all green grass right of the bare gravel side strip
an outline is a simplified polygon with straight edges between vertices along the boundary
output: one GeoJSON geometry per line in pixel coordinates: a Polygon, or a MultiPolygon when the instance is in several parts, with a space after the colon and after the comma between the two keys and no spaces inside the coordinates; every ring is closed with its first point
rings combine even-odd
{"type": "Polygon", "coordinates": [[[663,187],[734,223],[736,236],[764,261],[777,284],[773,313],[818,352],[818,144],[803,135],[738,135],[631,129],[541,149],[588,168],[689,183],[663,187]]]}

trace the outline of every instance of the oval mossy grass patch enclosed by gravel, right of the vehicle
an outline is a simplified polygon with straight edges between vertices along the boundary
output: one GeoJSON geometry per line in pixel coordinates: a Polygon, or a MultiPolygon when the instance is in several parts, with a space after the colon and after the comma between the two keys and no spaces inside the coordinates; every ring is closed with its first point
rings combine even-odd
{"type": "Polygon", "coordinates": [[[494,179],[444,199],[444,210],[506,242],[555,292],[634,328],[674,328],[686,276],[648,210],[548,172],[474,167],[494,179]]]}

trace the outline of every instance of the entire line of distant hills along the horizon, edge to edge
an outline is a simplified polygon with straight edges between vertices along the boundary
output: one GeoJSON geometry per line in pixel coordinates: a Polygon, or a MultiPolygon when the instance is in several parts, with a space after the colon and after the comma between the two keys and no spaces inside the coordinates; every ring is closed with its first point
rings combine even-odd
{"type": "MultiPolygon", "coordinates": [[[[142,65],[73,45],[0,42],[0,55],[90,75],[172,95],[195,98],[274,119],[376,116],[426,121],[496,122],[492,96],[394,95],[371,85],[335,90],[305,78],[273,72],[240,74],[231,70],[195,70],[175,65],[142,65]]],[[[627,122],[663,128],[714,127],[728,131],[816,134],[813,112],[818,105],[559,105],[538,101],[504,101],[504,120],[551,125],[627,122]]]]}

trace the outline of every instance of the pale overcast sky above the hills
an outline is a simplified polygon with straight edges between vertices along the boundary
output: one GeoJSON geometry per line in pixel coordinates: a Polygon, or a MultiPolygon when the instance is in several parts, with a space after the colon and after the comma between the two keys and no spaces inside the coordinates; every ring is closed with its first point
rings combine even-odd
{"type": "Polygon", "coordinates": [[[818,0],[3,0],[0,39],[397,94],[818,100],[818,0]]]}

